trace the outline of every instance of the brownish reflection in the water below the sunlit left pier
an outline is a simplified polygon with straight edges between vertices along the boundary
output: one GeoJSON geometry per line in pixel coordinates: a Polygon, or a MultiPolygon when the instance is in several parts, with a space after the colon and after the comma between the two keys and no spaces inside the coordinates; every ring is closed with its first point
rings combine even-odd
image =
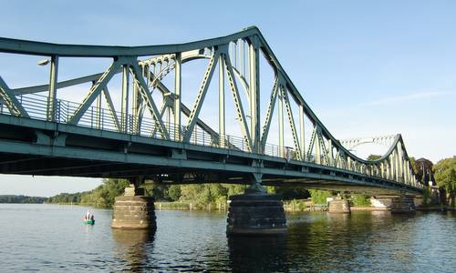
{"type": "Polygon", "coordinates": [[[116,256],[130,271],[140,271],[150,264],[148,253],[153,249],[155,229],[112,229],[117,243],[116,256]]]}

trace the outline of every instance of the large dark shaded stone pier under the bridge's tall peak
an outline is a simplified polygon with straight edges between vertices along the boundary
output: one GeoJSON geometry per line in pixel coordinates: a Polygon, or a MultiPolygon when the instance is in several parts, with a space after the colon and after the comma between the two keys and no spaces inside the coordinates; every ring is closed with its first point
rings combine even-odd
{"type": "Polygon", "coordinates": [[[228,236],[284,235],[286,218],[284,203],[279,195],[261,192],[230,197],[228,236]]]}

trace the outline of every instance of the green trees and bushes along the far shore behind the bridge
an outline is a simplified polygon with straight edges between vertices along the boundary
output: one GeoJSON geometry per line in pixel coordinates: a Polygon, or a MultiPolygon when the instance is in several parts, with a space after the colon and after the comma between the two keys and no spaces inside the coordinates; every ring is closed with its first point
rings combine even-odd
{"type": "MultiPolygon", "coordinates": [[[[369,160],[377,159],[380,156],[371,155],[369,160]]],[[[429,160],[420,158],[415,160],[410,157],[414,173],[420,181],[426,181],[429,185],[439,187],[439,200],[427,190],[423,195],[423,206],[418,209],[439,209],[441,207],[456,207],[456,156],[440,160],[436,165],[429,166],[422,163],[429,160]],[[420,168],[421,167],[421,168],[420,168]],[[435,177],[434,177],[435,174],[435,177]],[[430,184],[432,182],[432,184],[430,184]],[[442,205],[439,204],[441,202],[442,205]]],[[[111,208],[114,205],[115,197],[124,193],[129,182],[125,179],[103,179],[101,185],[85,192],[73,194],[62,193],[54,197],[26,197],[26,196],[0,196],[0,203],[47,203],[81,205],[99,208],[111,208]]],[[[205,209],[205,210],[226,210],[229,197],[244,193],[247,186],[232,184],[192,184],[192,185],[163,185],[146,181],[142,186],[144,195],[154,197],[156,209],[205,209]]],[[[307,190],[304,187],[266,187],[270,194],[279,194],[283,197],[286,211],[315,211],[324,210],[326,198],[334,197],[336,192],[326,190],[307,190]]],[[[374,210],[370,206],[370,196],[363,194],[343,195],[350,201],[353,210],[374,210]]]]}

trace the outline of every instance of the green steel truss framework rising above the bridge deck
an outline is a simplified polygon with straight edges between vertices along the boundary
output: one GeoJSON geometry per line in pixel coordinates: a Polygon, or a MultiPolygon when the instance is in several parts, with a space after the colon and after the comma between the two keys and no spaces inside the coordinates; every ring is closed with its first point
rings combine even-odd
{"type": "MultiPolygon", "coordinates": [[[[326,127],[319,121],[314,112],[307,106],[305,100],[294,86],[293,82],[286,75],[285,70],[276,59],[270,46],[266,43],[264,36],[256,27],[246,28],[243,31],[215,39],[208,39],[181,45],[150,45],[150,46],[98,46],[98,45],[56,45],[48,43],[37,43],[23,40],[0,38],[0,52],[51,56],[51,69],[49,85],[30,86],[25,88],[9,89],[3,80],[0,81],[0,93],[2,102],[8,107],[8,111],[13,116],[27,116],[26,107],[22,106],[16,96],[23,96],[36,92],[48,91],[47,120],[56,121],[56,99],[57,90],[66,86],[75,86],[81,83],[92,81],[94,84],[88,91],[88,95],[71,113],[68,123],[71,125],[80,124],[81,118],[88,115],[88,108],[96,102],[96,128],[102,128],[102,109],[101,92],[103,92],[109,113],[114,120],[117,131],[140,134],[141,120],[144,108],[149,109],[154,126],[150,133],[160,130],[161,137],[167,140],[189,143],[192,132],[200,127],[203,133],[211,136],[212,144],[217,147],[237,148],[235,145],[228,144],[225,135],[225,108],[224,108],[224,79],[227,76],[230,91],[233,95],[233,102],[238,123],[241,126],[246,151],[252,153],[265,153],[266,142],[271,130],[271,119],[275,110],[276,98],[279,96],[279,152],[278,157],[285,157],[285,124],[284,112],[289,120],[287,133],[293,137],[295,156],[288,158],[298,161],[314,161],[317,164],[346,169],[347,171],[357,171],[362,174],[378,177],[393,177],[407,184],[416,184],[413,177],[413,170],[409,164],[407,151],[403,144],[402,137],[396,136],[394,141],[388,139],[391,144],[389,151],[380,159],[368,161],[356,157],[350,153],[347,145],[357,146],[363,140],[352,142],[338,141],[332,136],[326,127]],[[234,45],[234,47],[233,47],[234,45]],[[245,46],[248,46],[245,51],[245,46]],[[233,47],[231,54],[230,46],[233,47]],[[242,49],[244,48],[244,49],[242,49]],[[259,52],[263,53],[265,60],[275,72],[274,87],[270,94],[267,111],[264,116],[264,126],[261,131],[260,120],[260,71],[259,71],[259,52]],[[208,52],[209,54],[206,54],[208,52]],[[104,73],[84,76],[67,81],[57,82],[57,60],[68,56],[88,56],[88,57],[112,57],[111,66],[104,73]],[[140,56],[152,56],[146,60],[139,60],[140,56]],[[209,66],[202,79],[202,85],[197,92],[195,103],[190,110],[181,102],[181,66],[185,62],[190,62],[197,58],[210,57],[209,66]],[[234,62],[234,64],[233,64],[234,62]],[[204,102],[204,97],[208,92],[208,86],[212,80],[212,74],[216,66],[219,66],[219,128],[212,129],[202,122],[200,112],[204,102]],[[153,71],[151,69],[153,66],[153,71]],[[245,67],[249,67],[246,69],[245,67]],[[157,68],[159,71],[157,71],[157,68]],[[174,90],[169,90],[161,80],[174,70],[174,90]],[[247,72],[246,72],[247,70],[247,72]],[[112,99],[109,96],[108,83],[112,76],[123,72],[122,104],[120,113],[116,113],[112,99]],[[132,76],[133,102],[129,103],[130,76],[132,76]],[[246,112],[238,89],[241,83],[247,95],[250,114],[250,124],[246,121],[246,112]],[[151,93],[154,89],[161,91],[163,99],[161,110],[154,102],[151,93]],[[291,106],[293,98],[299,109],[299,131],[295,125],[295,113],[291,106]],[[285,107],[284,107],[285,106],[285,107]],[[131,109],[135,128],[129,128],[129,108],[131,109]],[[171,122],[171,111],[173,113],[174,127],[171,138],[169,130],[165,126],[164,113],[168,111],[168,125],[171,122]],[[189,121],[186,126],[185,134],[181,132],[181,114],[188,116],[189,121]],[[120,116],[120,121],[119,121],[120,116]],[[305,142],[305,119],[308,119],[314,126],[314,131],[306,146],[305,142]],[[314,155],[315,153],[315,155],[314,155]]],[[[0,78],[1,79],[1,78],[0,78]]],[[[131,121],[130,121],[131,123],[131,121]]],[[[169,125],[170,126],[170,125],[169,125]]],[[[171,130],[171,129],[170,129],[171,130]]],[[[378,138],[376,138],[378,140],[378,138]]],[[[376,140],[376,141],[377,141],[376,140]]],[[[195,142],[198,141],[195,137],[195,142]]],[[[386,141],[379,139],[378,141],[386,141]]],[[[383,142],[385,143],[385,142],[383,142]]],[[[202,143],[202,145],[205,145],[202,143]]],[[[236,144],[237,145],[237,144],[236,144]]],[[[244,147],[244,144],[243,144],[244,147]]],[[[287,152],[288,149],[287,149],[287,152]]],[[[289,154],[286,156],[289,157],[289,154]]],[[[261,166],[261,165],[258,165],[261,166]]]]}

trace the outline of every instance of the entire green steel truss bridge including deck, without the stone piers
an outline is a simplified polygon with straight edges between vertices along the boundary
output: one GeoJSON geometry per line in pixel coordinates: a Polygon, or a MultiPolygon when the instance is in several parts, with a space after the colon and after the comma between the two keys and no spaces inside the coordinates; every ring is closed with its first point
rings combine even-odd
{"type": "Polygon", "coordinates": [[[423,190],[400,135],[345,141],[332,136],[256,27],[180,45],[57,45],[0,38],[0,52],[44,56],[40,65],[49,65],[46,85],[13,88],[0,75],[2,174],[262,183],[378,194],[423,190]],[[105,59],[110,65],[97,74],[58,81],[59,61],[68,58],[105,59]],[[183,88],[188,77],[182,71],[195,62],[205,63],[201,85],[183,88]],[[270,89],[260,90],[266,80],[260,79],[261,62],[274,71],[270,89]],[[68,87],[88,84],[81,101],[61,98],[68,87]],[[211,84],[218,103],[210,107],[218,114],[204,116],[211,84]],[[264,94],[267,99],[260,100],[264,94]],[[185,104],[184,96],[192,96],[193,104],[185,104]],[[215,126],[204,121],[211,117],[215,126]],[[233,125],[239,136],[228,134],[233,125]],[[366,142],[388,143],[389,150],[374,161],[349,151],[366,142]]]}

